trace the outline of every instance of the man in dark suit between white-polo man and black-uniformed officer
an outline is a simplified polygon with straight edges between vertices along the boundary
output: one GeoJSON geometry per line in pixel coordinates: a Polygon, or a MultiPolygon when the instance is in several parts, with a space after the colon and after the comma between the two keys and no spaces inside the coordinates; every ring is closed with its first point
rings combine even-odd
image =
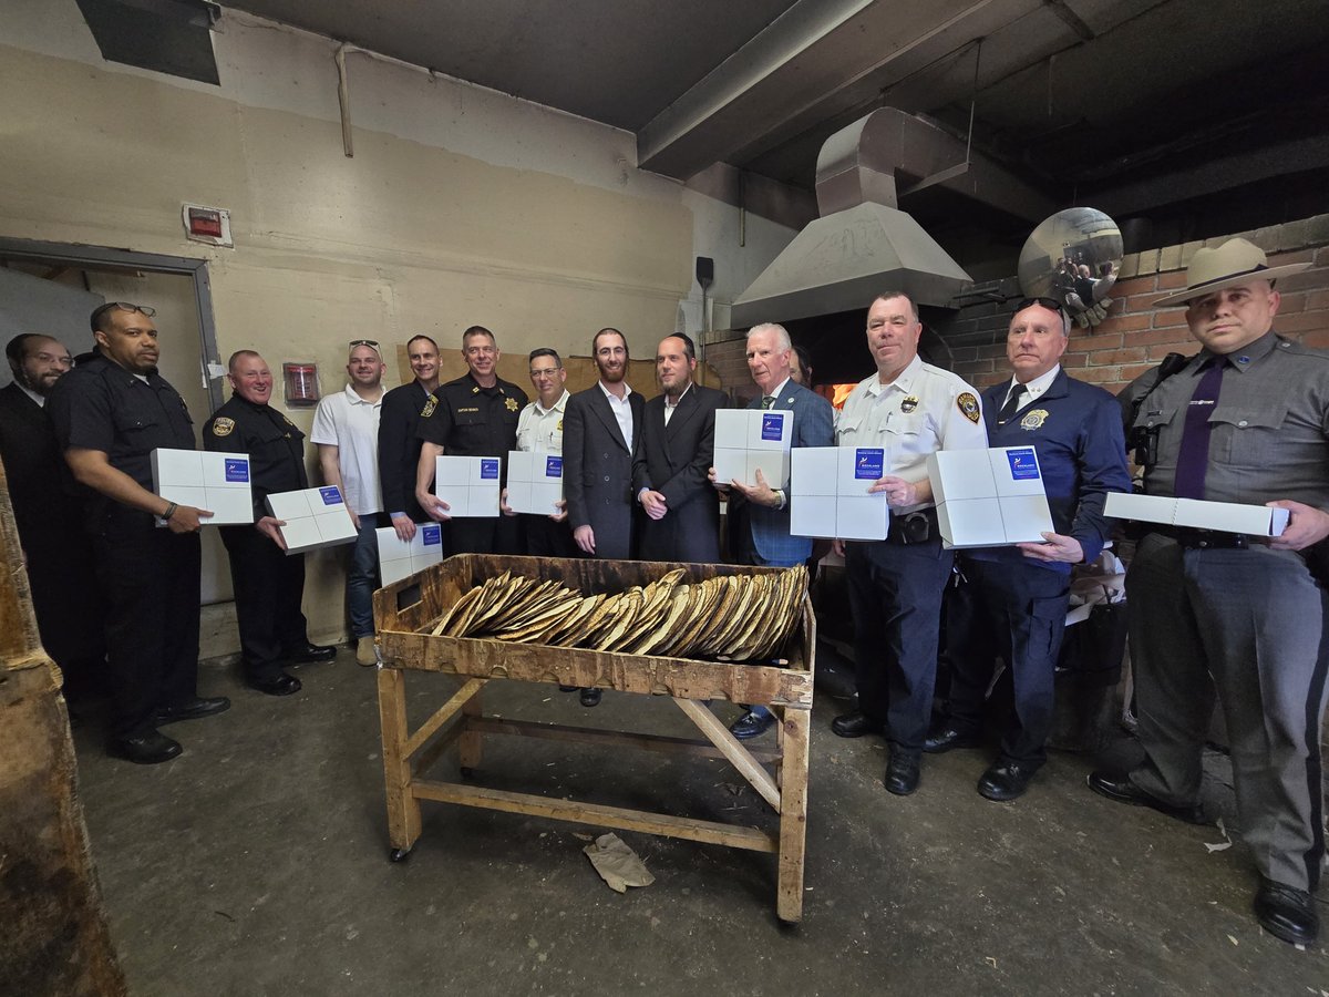
{"type": "Polygon", "coordinates": [[[415,378],[384,395],[379,409],[379,484],[392,528],[409,541],[416,522],[428,518],[415,500],[415,475],[420,467],[420,412],[439,387],[439,344],[425,335],[411,336],[407,360],[415,378]]]}

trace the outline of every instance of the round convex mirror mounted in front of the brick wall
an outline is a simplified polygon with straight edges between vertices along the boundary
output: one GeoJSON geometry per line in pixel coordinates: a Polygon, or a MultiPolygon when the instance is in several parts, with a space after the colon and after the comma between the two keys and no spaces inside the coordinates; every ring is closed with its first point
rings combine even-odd
{"type": "Polygon", "coordinates": [[[1069,207],[1045,221],[1019,254],[1019,287],[1055,298],[1079,326],[1107,318],[1108,291],[1122,267],[1122,231],[1092,207],[1069,207]]]}

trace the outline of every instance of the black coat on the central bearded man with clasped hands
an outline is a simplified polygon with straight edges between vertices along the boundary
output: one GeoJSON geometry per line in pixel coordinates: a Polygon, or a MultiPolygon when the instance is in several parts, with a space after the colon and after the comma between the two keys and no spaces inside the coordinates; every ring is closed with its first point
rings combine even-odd
{"type": "Polygon", "coordinates": [[[664,496],[662,520],[642,517],[643,561],[720,560],[720,502],[707,472],[715,460],[715,411],[727,399],[694,384],[664,425],[664,396],[646,403],[642,439],[633,457],[633,497],[643,488],[664,496]]]}

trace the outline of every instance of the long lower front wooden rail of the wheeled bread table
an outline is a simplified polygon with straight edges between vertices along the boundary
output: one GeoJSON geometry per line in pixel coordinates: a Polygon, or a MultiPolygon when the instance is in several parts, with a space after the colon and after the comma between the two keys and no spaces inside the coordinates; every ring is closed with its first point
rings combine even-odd
{"type": "Polygon", "coordinates": [[[650,814],[641,810],[606,807],[601,803],[578,803],[536,796],[526,792],[506,792],[461,783],[417,782],[412,787],[417,799],[439,803],[457,803],[462,807],[481,807],[505,814],[524,814],[533,818],[566,820],[574,824],[609,827],[617,831],[641,831],[647,835],[680,837],[688,841],[722,844],[754,852],[775,852],[777,841],[755,827],[719,824],[712,820],[676,818],[668,814],[650,814]]]}

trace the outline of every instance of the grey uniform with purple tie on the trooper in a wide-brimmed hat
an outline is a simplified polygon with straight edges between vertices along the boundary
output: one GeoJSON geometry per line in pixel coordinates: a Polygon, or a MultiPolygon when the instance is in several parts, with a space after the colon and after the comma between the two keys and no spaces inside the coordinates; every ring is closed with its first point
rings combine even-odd
{"type": "MultiPolygon", "coordinates": [[[[1140,403],[1156,433],[1147,495],[1174,496],[1201,350],[1140,403]]],[[[1269,331],[1227,356],[1208,417],[1204,498],[1329,509],[1329,354],[1269,331]]],[[[1268,880],[1313,891],[1324,855],[1320,727],[1326,653],[1322,582],[1312,550],[1144,524],[1126,578],[1139,736],[1131,782],[1175,807],[1200,795],[1201,748],[1217,690],[1231,743],[1241,833],[1268,880]],[[1212,677],[1212,679],[1211,679],[1212,677]]]]}

